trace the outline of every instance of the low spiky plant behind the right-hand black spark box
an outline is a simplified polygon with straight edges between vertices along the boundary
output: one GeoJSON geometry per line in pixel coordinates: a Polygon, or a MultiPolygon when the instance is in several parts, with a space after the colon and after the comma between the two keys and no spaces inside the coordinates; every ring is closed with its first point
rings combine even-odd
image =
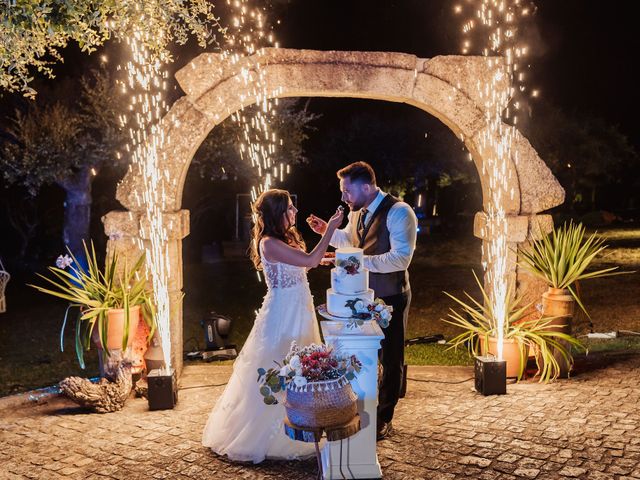
{"type": "MultiPolygon", "coordinates": [[[[444,292],[460,307],[460,311],[450,309],[445,323],[454,325],[464,331],[449,341],[449,349],[466,346],[472,355],[480,353],[482,344],[488,345],[489,337],[498,337],[499,322],[494,310],[493,302],[485,291],[478,276],[473,272],[475,281],[480,288],[482,301],[478,301],[468,293],[464,293],[466,300],[461,300],[450,293],[444,292]]],[[[541,382],[548,382],[560,375],[560,364],[554,356],[554,349],[560,353],[567,365],[573,363],[571,347],[584,349],[580,341],[571,335],[558,331],[553,323],[556,317],[540,317],[531,315],[533,303],[522,305],[521,298],[514,298],[513,292],[507,294],[505,318],[502,325],[503,337],[515,340],[520,350],[520,369],[518,380],[522,378],[526,365],[526,354],[529,348],[536,352],[536,364],[541,382]]]]}

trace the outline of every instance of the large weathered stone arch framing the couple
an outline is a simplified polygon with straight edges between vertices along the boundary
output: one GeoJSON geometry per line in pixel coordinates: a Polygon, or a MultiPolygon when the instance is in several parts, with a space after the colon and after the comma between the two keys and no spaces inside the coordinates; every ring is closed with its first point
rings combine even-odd
{"type": "MultiPolygon", "coordinates": [[[[168,175],[164,221],[168,234],[171,279],[171,336],[173,364],[182,367],[182,239],[189,233],[188,211],[181,210],[182,191],[195,152],[209,132],[232,113],[255,103],[255,80],[268,97],[351,97],[412,105],[437,117],[464,143],[478,170],[486,210],[490,201],[481,136],[487,128],[478,82],[495,74],[496,59],[414,55],[384,52],[341,52],[265,49],[232,63],[215,53],[203,53],[176,73],[186,93],[163,118],[161,125],[168,175]]],[[[507,76],[503,78],[506,81],[507,76]]],[[[505,128],[512,128],[506,127],[505,128]]],[[[549,230],[548,215],[539,215],[564,201],[564,190],[528,140],[514,131],[512,158],[507,165],[511,195],[502,207],[508,216],[508,242],[512,247],[509,273],[531,295],[540,293],[516,267],[516,248],[527,241],[533,227],[549,230]]],[[[138,255],[136,240],[144,231],[143,208],[137,192],[142,178],[130,171],[118,186],[117,199],[128,211],[113,211],[104,219],[108,249],[138,255]]],[[[483,212],[476,214],[474,233],[482,238],[483,212]]],[[[145,239],[142,239],[145,241],[145,239]]],[[[486,239],[483,238],[483,241],[486,239]]]]}

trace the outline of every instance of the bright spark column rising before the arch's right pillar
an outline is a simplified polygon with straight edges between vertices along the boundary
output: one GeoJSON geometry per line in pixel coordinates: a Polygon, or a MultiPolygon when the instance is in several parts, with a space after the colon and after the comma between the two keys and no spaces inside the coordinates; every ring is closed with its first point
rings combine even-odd
{"type": "MultiPolygon", "coordinates": [[[[496,321],[497,357],[502,359],[504,325],[510,300],[505,204],[515,194],[508,188],[512,181],[508,165],[512,158],[514,134],[509,123],[516,125],[518,122],[517,112],[521,110],[519,96],[526,91],[526,77],[521,71],[521,63],[528,53],[528,47],[518,43],[517,27],[518,19],[529,16],[532,8],[523,6],[521,0],[469,0],[466,3],[475,10],[474,18],[462,26],[462,33],[467,37],[462,42],[462,52],[469,53],[472,42],[468,36],[476,31],[481,40],[481,53],[487,58],[493,72],[490,80],[478,82],[477,88],[485,106],[486,127],[480,136],[479,149],[485,159],[482,168],[488,177],[490,192],[483,232],[483,237],[487,239],[483,245],[483,266],[496,321]]],[[[462,6],[456,5],[454,12],[462,13],[462,6]]],[[[533,90],[531,96],[538,96],[537,90],[533,90]]]]}

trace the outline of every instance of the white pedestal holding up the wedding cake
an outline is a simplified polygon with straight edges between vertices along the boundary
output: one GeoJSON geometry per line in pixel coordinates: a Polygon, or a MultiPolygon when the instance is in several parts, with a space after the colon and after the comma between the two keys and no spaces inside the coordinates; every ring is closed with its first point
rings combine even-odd
{"type": "Polygon", "coordinates": [[[337,352],[355,355],[362,362],[362,370],[351,382],[358,395],[362,429],[345,440],[325,443],[323,478],[382,478],[376,453],[376,411],[378,350],[384,334],[375,321],[367,321],[362,327],[350,330],[345,328],[344,322],[322,321],[321,326],[325,343],[333,345],[337,352]]]}

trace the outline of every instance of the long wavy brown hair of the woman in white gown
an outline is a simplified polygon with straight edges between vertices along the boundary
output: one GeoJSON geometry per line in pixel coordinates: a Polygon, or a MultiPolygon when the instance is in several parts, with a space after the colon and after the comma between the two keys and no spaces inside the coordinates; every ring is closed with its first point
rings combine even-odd
{"type": "Polygon", "coordinates": [[[253,203],[253,230],[251,234],[251,260],[257,270],[262,270],[260,241],[274,237],[287,245],[306,251],[300,232],[293,225],[285,225],[285,214],[289,208],[289,192],[273,188],[263,192],[253,203]]]}

